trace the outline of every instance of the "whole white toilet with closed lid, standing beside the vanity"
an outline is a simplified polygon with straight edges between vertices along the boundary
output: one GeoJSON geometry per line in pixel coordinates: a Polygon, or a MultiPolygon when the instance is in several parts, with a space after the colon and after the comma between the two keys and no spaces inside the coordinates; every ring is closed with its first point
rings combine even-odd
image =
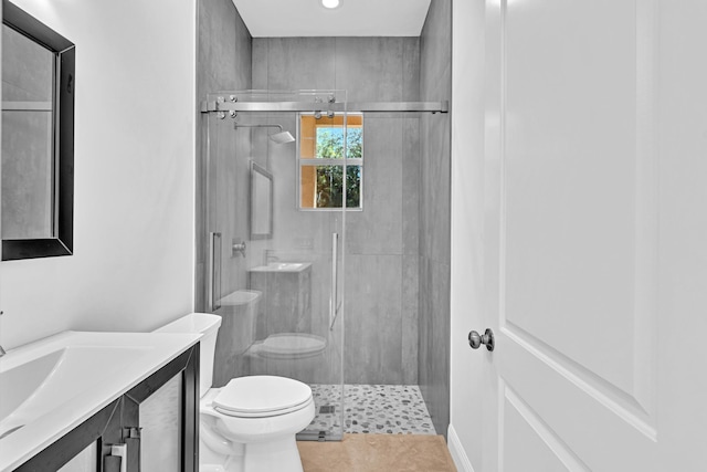
{"type": "Polygon", "coordinates": [[[312,389],[275,376],[234,378],[211,388],[218,315],[192,313],[159,329],[200,339],[200,472],[302,472],[295,434],[315,416],[312,389]]]}

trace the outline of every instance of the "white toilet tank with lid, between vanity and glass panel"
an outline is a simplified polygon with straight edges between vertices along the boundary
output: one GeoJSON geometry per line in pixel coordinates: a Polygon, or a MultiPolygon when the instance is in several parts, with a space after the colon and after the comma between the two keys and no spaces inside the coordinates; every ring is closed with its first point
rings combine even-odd
{"type": "Polygon", "coordinates": [[[217,335],[221,326],[221,316],[209,313],[190,313],[175,319],[155,333],[200,333],[199,353],[199,397],[203,397],[213,382],[213,359],[217,348],[217,335]]]}

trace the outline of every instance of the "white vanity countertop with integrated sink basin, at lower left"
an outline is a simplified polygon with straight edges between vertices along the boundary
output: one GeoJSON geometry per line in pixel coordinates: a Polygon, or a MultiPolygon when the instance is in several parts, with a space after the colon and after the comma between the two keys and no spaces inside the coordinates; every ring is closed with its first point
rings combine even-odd
{"type": "Polygon", "coordinates": [[[0,471],[22,464],[198,339],[64,332],[11,349],[0,357],[0,471]]]}

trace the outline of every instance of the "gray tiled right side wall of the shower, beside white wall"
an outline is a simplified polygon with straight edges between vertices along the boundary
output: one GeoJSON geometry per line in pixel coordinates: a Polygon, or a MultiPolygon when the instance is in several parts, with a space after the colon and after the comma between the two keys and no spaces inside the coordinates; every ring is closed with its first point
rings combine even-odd
{"type": "MultiPolygon", "coordinates": [[[[452,0],[432,0],[420,39],[421,99],[451,99],[452,0]]],[[[419,381],[439,433],[450,422],[450,115],[421,118],[419,381]]]]}

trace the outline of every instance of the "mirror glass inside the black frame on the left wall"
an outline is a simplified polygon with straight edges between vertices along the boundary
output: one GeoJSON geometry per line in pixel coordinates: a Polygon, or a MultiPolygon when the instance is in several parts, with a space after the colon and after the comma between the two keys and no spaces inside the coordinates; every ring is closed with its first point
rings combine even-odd
{"type": "Polygon", "coordinates": [[[44,239],[53,223],[54,53],[2,25],[2,239],[44,239]]]}

